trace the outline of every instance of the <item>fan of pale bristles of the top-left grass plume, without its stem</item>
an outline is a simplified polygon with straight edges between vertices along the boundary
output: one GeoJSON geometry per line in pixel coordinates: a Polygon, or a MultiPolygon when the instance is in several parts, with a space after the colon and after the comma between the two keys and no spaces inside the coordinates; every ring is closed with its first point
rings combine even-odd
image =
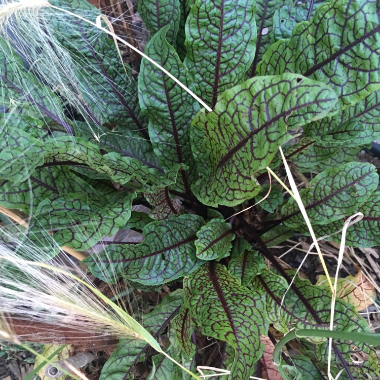
{"type": "MultiPolygon", "coordinates": [[[[13,104],[4,106],[20,108],[22,105],[22,108],[25,108],[28,95],[39,91],[43,101],[39,104],[28,102],[28,107],[37,112],[39,118],[44,114],[46,117],[47,112],[44,111],[48,110],[48,116],[53,116],[56,123],[61,124],[72,134],[74,130],[70,124],[75,126],[75,122],[67,120],[67,110],[74,111],[79,113],[87,128],[97,137],[102,133],[100,126],[111,122],[110,103],[119,104],[119,109],[123,108],[121,105],[123,99],[118,99],[115,92],[120,90],[119,92],[124,95],[127,93],[127,86],[118,88],[120,83],[113,82],[113,79],[120,76],[122,80],[119,79],[119,82],[124,81],[126,85],[129,79],[126,78],[117,53],[115,56],[108,54],[102,57],[100,49],[96,50],[96,44],[98,47],[103,47],[113,43],[110,43],[111,40],[106,34],[97,27],[78,22],[78,19],[72,15],[51,7],[51,5],[61,6],[62,2],[51,3],[47,0],[4,0],[3,4],[0,4],[0,35],[3,37],[0,46],[3,54],[7,58],[13,55],[12,59],[18,60],[15,51],[23,60],[23,64],[18,62],[12,67],[13,80],[16,82],[16,87],[21,90],[20,97],[13,99],[13,104]],[[96,56],[89,58],[88,55],[95,50],[96,56]],[[101,65],[103,58],[107,67],[112,69],[122,67],[120,72],[113,69],[113,78],[107,78],[107,81],[100,81],[104,77],[101,65]],[[38,81],[47,86],[33,88],[33,83],[26,80],[26,75],[31,72],[38,81]],[[117,88],[117,91],[110,91],[112,88],[117,88]],[[104,94],[107,99],[103,99],[104,94]],[[66,115],[57,103],[63,104],[66,115]]],[[[81,3],[81,9],[68,7],[65,9],[94,20],[100,15],[100,12],[87,2],[81,3]]]]}

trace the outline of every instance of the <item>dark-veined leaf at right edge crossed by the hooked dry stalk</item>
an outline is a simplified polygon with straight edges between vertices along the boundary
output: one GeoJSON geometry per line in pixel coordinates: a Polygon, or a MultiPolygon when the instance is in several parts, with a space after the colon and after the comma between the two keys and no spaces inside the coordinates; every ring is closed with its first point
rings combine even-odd
{"type": "MultiPolygon", "coordinates": [[[[380,245],[380,192],[374,192],[367,201],[358,206],[355,212],[362,212],[362,220],[348,227],[346,245],[352,247],[376,247],[380,245]]],[[[313,230],[317,236],[330,235],[343,228],[345,220],[337,220],[325,225],[316,225],[313,230]]],[[[340,243],[341,234],[329,239],[340,243]]]]}

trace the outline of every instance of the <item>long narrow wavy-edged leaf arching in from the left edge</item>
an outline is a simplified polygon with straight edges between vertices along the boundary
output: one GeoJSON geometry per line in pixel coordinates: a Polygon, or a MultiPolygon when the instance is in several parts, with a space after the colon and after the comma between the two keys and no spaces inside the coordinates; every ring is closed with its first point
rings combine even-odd
{"type": "Polygon", "coordinates": [[[147,182],[168,185],[175,182],[179,169],[172,165],[172,170],[164,177],[160,169],[147,166],[132,157],[122,157],[116,152],[104,154],[98,146],[79,137],[61,136],[41,141],[16,128],[12,128],[12,135],[13,138],[7,136],[9,146],[0,153],[0,160],[4,164],[0,178],[24,181],[37,166],[62,164],[71,165],[74,170],[91,176],[76,166],[85,165],[101,174],[100,178],[106,175],[105,178],[120,184],[135,179],[142,185],[147,182]],[[16,159],[13,159],[14,155],[16,159]]]}

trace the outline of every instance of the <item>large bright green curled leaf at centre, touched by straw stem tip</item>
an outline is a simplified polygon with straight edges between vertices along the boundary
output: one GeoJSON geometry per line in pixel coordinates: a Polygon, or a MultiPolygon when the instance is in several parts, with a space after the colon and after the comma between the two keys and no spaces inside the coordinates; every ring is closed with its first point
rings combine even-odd
{"type": "Polygon", "coordinates": [[[225,91],[212,112],[201,110],[193,121],[205,136],[196,159],[209,168],[193,192],[209,206],[254,197],[260,190],[254,174],[290,138],[287,128],[323,118],[335,102],[329,87],[295,74],[256,77],[225,91]]]}

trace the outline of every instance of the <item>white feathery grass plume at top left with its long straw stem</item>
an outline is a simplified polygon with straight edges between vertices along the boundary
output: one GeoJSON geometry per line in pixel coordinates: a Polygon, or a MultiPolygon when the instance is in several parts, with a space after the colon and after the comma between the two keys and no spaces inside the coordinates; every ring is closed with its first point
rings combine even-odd
{"type": "MultiPolygon", "coordinates": [[[[74,7],[76,3],[71,3],[71,6],[74,7]]],[[[25,66],[48,85],[48,90],[52,89],[54,94],[63,98],[69,109],[81,115],[95,139],[99,140],[104,124],[111,125],[113,120],[118,120],[120,124],[127,114],[131,116],[134,105],[126,99],[137,99],[136,94],[129,94],[126,90],[129,79],[126,78],[117,49],[111,51],[107,48],[115,45],[116,40],[158,66],[206,109],[211,110],[170,72],[115,34],[110,30],[112,28],[101,26],[102,16],[95,7],[84,0],[77,5],[80,7],[70,8],[66,2],[57,0],[30,3],[28,0],[5,0],[0,5],[0,36],[23,58],[25,66]],[[107,75],[105,68],[110,70],[107,75]]],[[[23,75],[23,67],[17,69],[16,77],[22,78],[23,75]]],[[[28,83],[28,86],[31,84],[28,83]]],[[[24,91],[32,91],[32,88],[19,87],[24,91]]],[[[53,97],[50,98],[44,96],[44,103],[50,101],[45,108],[57,109],[53,97]]],[[[16,99],[16,106],[17,101],[20,100],[16,99]]],[[[131,118],[136,121],[134,114],[131,118]]],[[[58,124],[75,124],[74,121],[67,123],[60,119],[55,117],[58,124]]],[[[127,123],[124,127],[141,131],[139,122],[135,124],[131,127],[131,123],[127,123]]],[[[73,132],[69,125],[64,127],[73,132]]]]}

